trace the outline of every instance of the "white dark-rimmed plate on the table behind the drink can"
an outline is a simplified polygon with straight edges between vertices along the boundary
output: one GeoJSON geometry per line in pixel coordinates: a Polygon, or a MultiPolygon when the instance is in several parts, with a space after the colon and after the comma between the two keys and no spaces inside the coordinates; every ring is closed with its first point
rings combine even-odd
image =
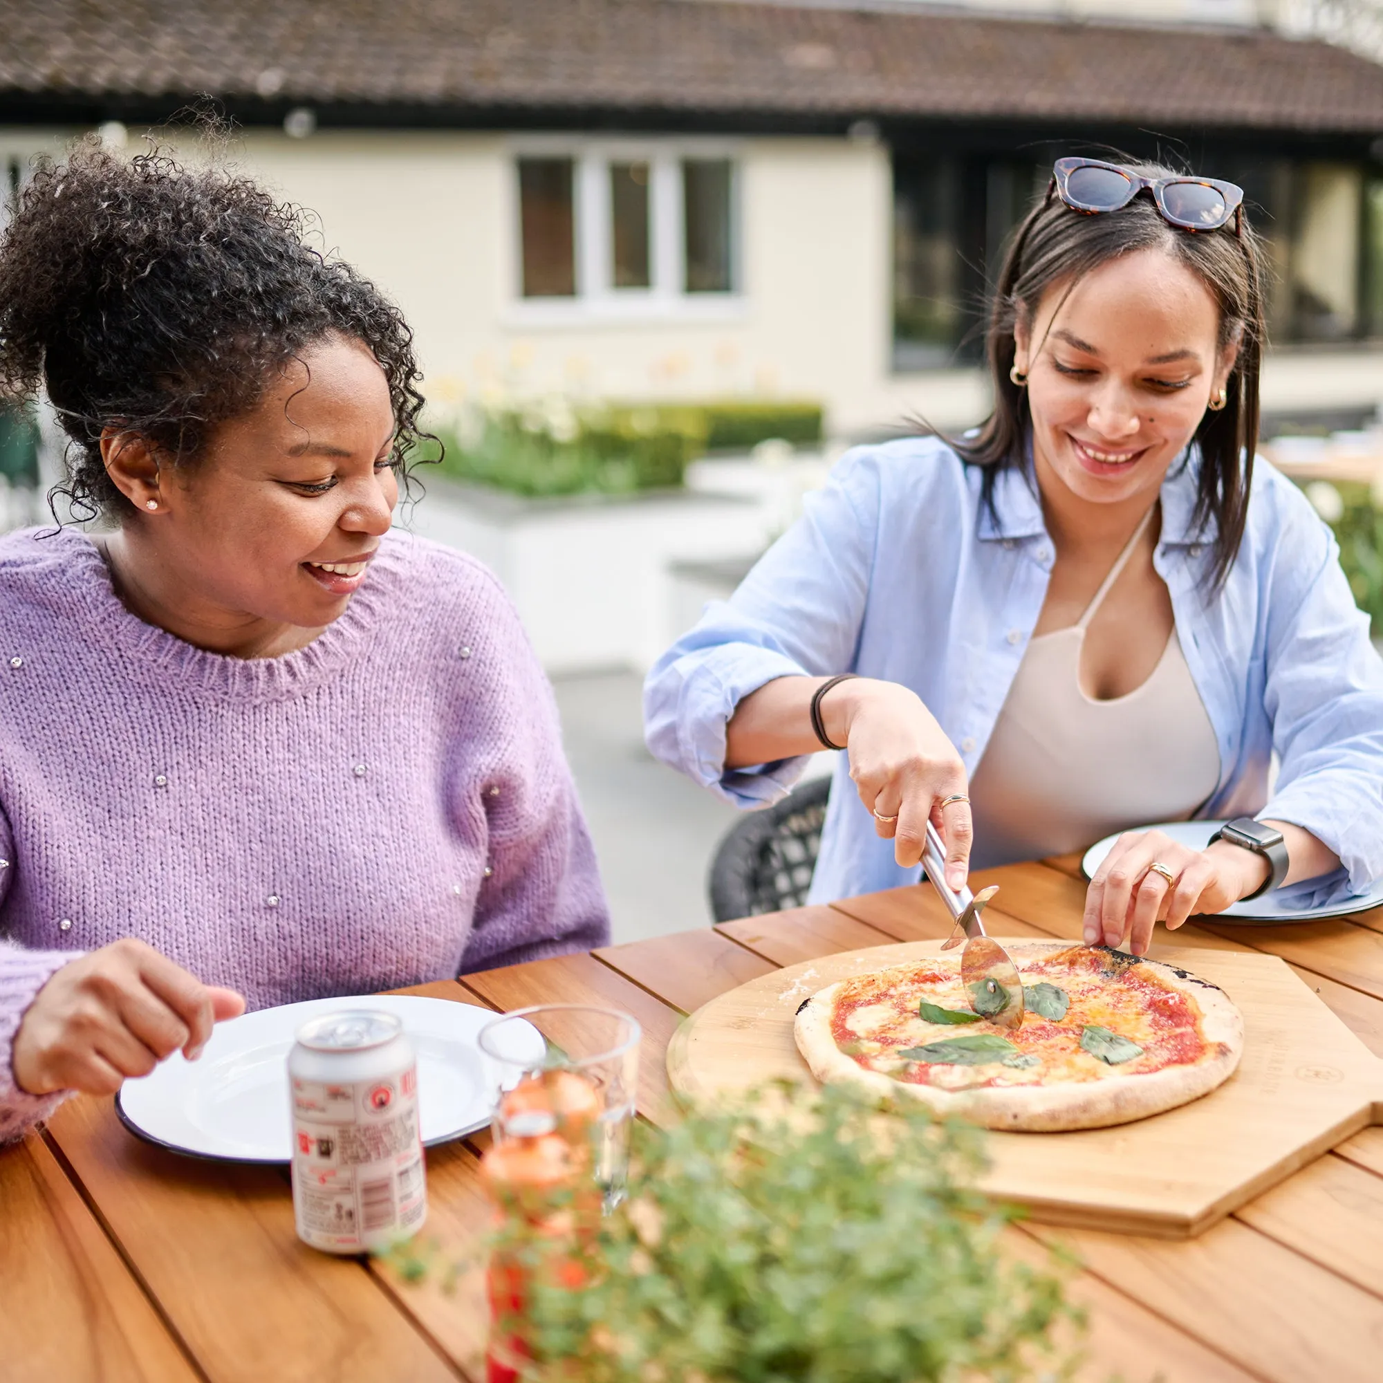
{"type": "MultiPolygon", "coordinates": [[[[402,1019],[418,1052],[418,1112],[429,1147],[490,1123],[491,1090],[476,1034],[495,1014],[474,1004],[411,994],[311,999],[217,1023],[198,1061],[174,1052],[127,1080],[120,1119],[149,1142],[198,1158],[288,1162],[288,1052],[297,1029],[339,1008],[379,1008],[402,1019]]],[[[534,1037],[541,1044],[537,1030],[534,1037]]]]}

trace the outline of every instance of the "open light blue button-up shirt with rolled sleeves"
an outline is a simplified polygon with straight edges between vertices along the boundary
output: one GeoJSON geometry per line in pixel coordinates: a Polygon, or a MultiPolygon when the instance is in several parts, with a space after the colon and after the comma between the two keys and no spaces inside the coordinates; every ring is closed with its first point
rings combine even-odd
{"type": "MultiPolygon", "coordinates": [[[[1192,452],[1163,481],[1153,566],[1220,747],[1220,781],[1198,815],[1293,822],[1343,864],[1299,885],[1301,900],[1362,892],[1383,878],[1383,660],[1368,618],[1330,530],[1263,461],[1239,555],[1207,596],[1213,550],[1192,531],[1196,466],[1192,452]],[[1268,799],[1274,751],[1281,768],[1268,799]]],[[[708,604],[653,667],[649,748],[736,805],[765,806],[808,761],[726,769],[736,705],[774,678],[857,672],[911,687],[974,774],[1054,561],[1030,473],[996,477],[993,512],[981,481],[979,467],[938,438],[848,452],[734,595],[708,604]]],[[[918,877],[875,835],[838,755],[810,900],[918,877]]]]}

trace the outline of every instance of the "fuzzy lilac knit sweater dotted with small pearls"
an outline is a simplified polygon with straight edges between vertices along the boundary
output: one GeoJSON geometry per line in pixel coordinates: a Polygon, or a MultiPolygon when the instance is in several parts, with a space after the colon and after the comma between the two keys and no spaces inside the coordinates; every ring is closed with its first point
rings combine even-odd
{"type": "Polygon", "coordinates": [[[25,1010],[122,936],[250,1008],[609,939],[552,690],[477,561],[390,534],[314,643],[243,660],[44,531],[0,538],[0,1141],[61,1098],[15,1087],[25,1010]]]}

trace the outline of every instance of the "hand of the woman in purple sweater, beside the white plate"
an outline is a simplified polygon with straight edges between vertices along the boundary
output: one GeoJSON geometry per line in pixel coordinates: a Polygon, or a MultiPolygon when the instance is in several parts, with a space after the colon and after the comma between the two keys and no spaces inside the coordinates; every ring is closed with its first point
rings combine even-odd
{"type": "Polygon", "coordinates": [[[195,1061],[212,1028],[242,1012],[235,990],[124,938],[69,961],[39,990],[14,1037],[14,1079],[30,1095],[112,1095],[178,1048],[195,1061]]]}

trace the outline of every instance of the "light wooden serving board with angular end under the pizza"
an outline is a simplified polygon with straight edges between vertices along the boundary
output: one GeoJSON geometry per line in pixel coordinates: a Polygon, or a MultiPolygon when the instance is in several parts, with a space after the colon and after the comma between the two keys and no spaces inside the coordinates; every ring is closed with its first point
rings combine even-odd
{"type": "MultiPolygon", "coordinates": [[[[792,1037],[802,1000],[940,947],[904,942],[823,956],[712,999],[668,1047],[672,1088],[687,1101],[715,1102],[773,1079],[815,1083],[792,1037]]],[[[1218,985],[1238,1004],[1239,1069],[1209,1095],[1137,1123],[990,1133],[989,1194],[1051,1224],[1188,1238],[1366,1124],[1383,1123],[1383,1062],[1283,960],[1174,946],[1159,947],[1158,960],[1218,985]]]]}

